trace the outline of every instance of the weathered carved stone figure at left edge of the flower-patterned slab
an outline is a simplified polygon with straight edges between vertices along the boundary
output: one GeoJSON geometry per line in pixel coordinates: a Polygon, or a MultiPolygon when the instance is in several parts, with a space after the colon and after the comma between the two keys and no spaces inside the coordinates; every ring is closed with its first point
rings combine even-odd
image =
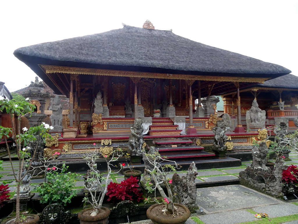
{"type": "Polygon", "coordinates": [[[171,185],[174,202],[186,206],[192,213],[198,209],[198,205],[196,204],[197,188],[195,186],[197,175],[197,168],[195,163],[192,162],[188,168],[186,177],[182,176],[180,178],[179,174],[175,173],[171,185]]]}

